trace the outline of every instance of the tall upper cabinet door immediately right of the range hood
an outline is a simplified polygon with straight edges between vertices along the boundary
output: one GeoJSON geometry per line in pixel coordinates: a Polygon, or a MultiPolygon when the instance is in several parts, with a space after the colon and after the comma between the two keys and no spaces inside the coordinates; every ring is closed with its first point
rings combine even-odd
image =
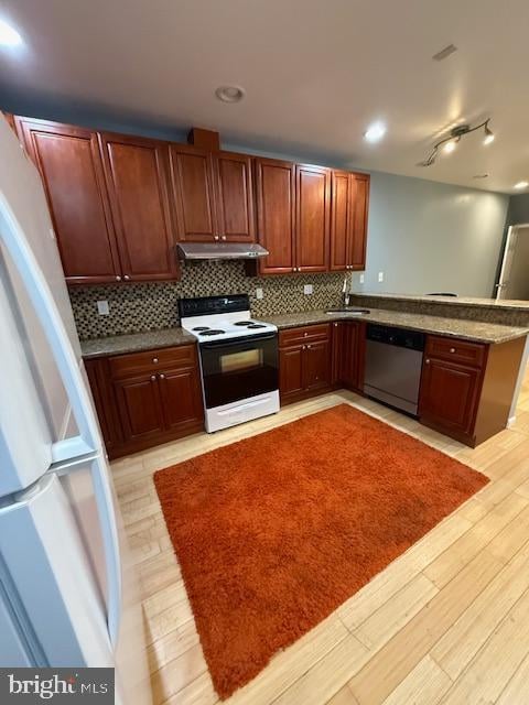
{"type": "Polygon", "coordinates": [[[295,263],[295,164],[256,159],[257,236],[270,254],[261,274],[288,274],[295,263]]]}

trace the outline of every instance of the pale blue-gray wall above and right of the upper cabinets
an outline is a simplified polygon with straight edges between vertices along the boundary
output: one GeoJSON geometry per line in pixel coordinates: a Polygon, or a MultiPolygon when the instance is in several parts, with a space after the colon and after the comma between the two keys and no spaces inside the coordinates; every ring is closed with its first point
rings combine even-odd
{"type": "MultiPolygon", "coordinates": [[[[13,112],[63,120],[94,128],[184,140],[182,130],[149,126],[143,119],[123,119],[87,106],[0,106],[13,112]]],[[[346,158],[325,160],[311,154],[263,152],[257,145],[225,144],[226,149],[313,161],[344,167],[346,158]]],[[[433,167],[434,169],[434,167],[433,167]]],[[[419,171],[419,170],[418,170],[419,171]]],[[[515,196],[511,202],[525,196],[515,196]]],[[[353,275],[357,291],[422,294],[447,291],[460,295],[493,294],[509,197],[385,173],[371,174],[369,239],[365,283],[353,275]],[[378,272],[385,280],[378,282],[378,272]]],[[[529,221],[529,203],[526,204],[529,221]]],[[[317,275],[314,278],[317,282],[317,275]]]]}

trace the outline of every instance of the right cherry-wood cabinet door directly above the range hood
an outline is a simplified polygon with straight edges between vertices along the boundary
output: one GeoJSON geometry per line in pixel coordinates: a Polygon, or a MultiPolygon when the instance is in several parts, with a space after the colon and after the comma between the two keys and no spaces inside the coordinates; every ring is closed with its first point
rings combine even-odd
{"type": "Polygon", "coordinates": [[[220,240],[253,242],[253,183],[251,158],[246,154],[218,152],[215,167],[215,212],[220,240]]]}

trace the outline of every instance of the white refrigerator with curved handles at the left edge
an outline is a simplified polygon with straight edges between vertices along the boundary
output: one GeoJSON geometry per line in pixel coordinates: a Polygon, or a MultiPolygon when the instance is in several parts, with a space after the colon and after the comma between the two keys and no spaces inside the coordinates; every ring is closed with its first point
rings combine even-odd
{"type": "Polygon", "coordinates": [[[116,702],[149,705],[126,558],[42,183],[0,118],[0,666],[115,666],[116,702]]]}

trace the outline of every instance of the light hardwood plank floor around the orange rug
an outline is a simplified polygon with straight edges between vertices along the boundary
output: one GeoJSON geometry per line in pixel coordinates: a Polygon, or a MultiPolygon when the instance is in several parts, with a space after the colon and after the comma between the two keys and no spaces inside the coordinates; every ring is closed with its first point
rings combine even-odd
{"type": "MultiPolygon", "coordinates": [[[[154,705],[218,702],[152,474],[219,445],[350,403],[490,478],[228,705],[529,703],[529,378],[517,421],[469,449],[349,392],[112,464],[141,579],[154,705]]],[[[131,704],[133,705],[133,704],[131,704]]]]}

